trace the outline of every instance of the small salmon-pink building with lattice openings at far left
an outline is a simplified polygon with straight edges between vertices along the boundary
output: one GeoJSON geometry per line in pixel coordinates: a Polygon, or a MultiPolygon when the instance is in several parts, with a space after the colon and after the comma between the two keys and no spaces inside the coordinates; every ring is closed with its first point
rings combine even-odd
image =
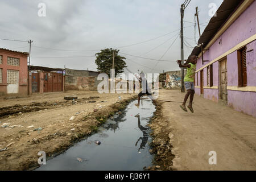
{"type": "Polygon", "coordinates": [[[28,52],[0,48],[0,94],[28,94],[28,52]]]}

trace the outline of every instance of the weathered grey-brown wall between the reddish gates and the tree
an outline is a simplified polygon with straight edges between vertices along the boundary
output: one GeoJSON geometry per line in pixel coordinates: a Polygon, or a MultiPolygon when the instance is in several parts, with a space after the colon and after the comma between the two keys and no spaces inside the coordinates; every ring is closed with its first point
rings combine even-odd
{"type": "Polygon", "coordinates": [[[97,90],[101,82],[97,80],[97,74],[89,76],[89,71],[66,69],[65,74],[65,90],[97,90]]]}

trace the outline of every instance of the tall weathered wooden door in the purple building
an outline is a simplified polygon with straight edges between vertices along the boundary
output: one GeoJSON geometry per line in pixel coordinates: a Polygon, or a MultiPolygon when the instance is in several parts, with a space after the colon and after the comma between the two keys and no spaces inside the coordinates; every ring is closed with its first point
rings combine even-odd
{"type": "Polygon", "coordinates": [[[226,87],[228,86],[228,69],[226,64],[226,59],[220,61],[220,99],[228,101],[228,91],[226,87]]]}

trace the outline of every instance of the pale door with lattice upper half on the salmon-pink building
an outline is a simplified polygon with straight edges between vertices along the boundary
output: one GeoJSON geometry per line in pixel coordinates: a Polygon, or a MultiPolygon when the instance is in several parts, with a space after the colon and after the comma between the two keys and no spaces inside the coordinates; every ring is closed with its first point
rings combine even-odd
{"type": "Polygon", "coordinates": [[[7,93],[19,93],[19,71],[7,69],[7,93]]]}

